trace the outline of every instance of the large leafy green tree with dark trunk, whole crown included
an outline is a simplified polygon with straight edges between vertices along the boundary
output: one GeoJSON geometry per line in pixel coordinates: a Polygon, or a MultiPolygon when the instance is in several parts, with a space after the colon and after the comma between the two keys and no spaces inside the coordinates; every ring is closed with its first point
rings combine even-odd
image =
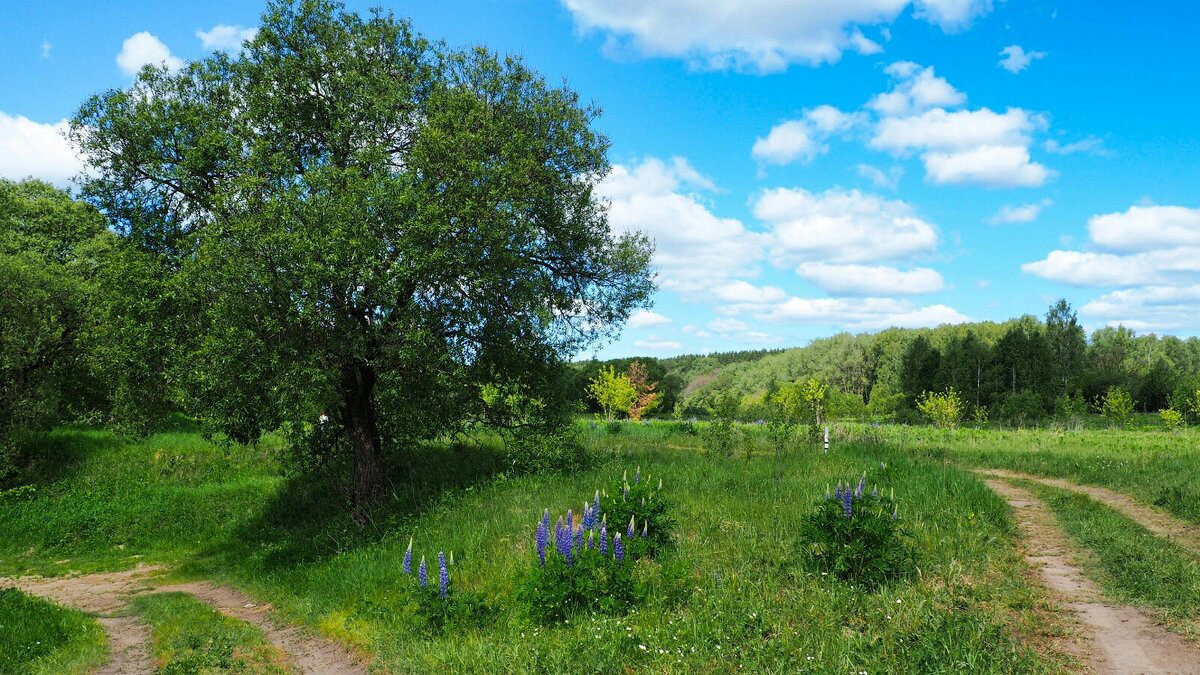
{"type": "Polygon", "coordinates": [[[238,54],[90,98],[72,137],[84,195],[186,311],[190,407],[348,447],[361,519],[385,446],[480,414],[486,383],[536,396],[647,303],[649,243],[593,192],[596,114],[517,59],[302,0],[238,54]]]}

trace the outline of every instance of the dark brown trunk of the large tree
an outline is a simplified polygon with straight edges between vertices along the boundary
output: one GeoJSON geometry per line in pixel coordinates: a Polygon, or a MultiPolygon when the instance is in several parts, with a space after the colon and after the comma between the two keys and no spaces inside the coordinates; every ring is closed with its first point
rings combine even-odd
{"type": "Polygon", "coordinates": [[[368,364],[342,369],[343,420],[354,448],[350,506],[361,527],[370,520],[371,504],[383,495],[383,458],[374,413],[376,374],[368,364]]]}

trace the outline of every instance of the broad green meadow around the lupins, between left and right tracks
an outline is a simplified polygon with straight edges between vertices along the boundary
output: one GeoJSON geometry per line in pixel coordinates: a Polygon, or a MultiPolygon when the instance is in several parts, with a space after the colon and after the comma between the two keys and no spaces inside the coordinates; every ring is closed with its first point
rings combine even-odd
{"type": "Polygon", "coordinates": [[[829,455],[800,446],[776,465],[762,430],[748,428],[749,456],[714,461],[697,436],[670,424],[583,429],[600,460],[568,474],[505,474],[488,447],[394,456],[392,498],[365,531],[344,513],[344,482],[286,478],[269,447],[61,430],[46,442],[70,462],[48,462],[32,495],[0,502],[0,569],[180,566],[374,655],[384,673],[1064,667],[1061,655],[1033,649],[1056,628],[1022,575],[1004,503],[940,459],[839,440],[829,455]],[[638,465],[674,502],[677,546],[664,562],[683,577],[640,563],[635,573],[653,590],[640,609],[529,621],[514,598],[536,560],[542,509],[578,509],[638,465]],[[895,489],[919,569],[877,592],[806,572],[798,557],[797,531],[826,486],[864,471],[895,489]],[[400,565],[410,536],[431,562],[454,551],[454,593],[474,597],[487,621],[440,629],[422,620],[400,565]]]}

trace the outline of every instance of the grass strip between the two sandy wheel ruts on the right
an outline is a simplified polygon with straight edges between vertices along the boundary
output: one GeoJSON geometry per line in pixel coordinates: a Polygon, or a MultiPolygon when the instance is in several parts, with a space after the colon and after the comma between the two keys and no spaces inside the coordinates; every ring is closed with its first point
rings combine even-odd
{"type": "Polygon", "coordinates": [[[1042,497],[1067,534],[1088,551],[1088,575],[1105,595],[1162,610],[1174,628],[1198,637],[1200,560],[1091,497],[1027,480],[1018,483],[1042,497]]]}

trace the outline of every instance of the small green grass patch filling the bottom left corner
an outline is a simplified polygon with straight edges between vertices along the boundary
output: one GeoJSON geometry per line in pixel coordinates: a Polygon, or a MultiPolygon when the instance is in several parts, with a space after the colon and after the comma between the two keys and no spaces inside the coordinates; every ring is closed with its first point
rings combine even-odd
{"type": "Polygon", "coordinates": [[[88,673],[104,661],[104,633],[80,611],[0,589],[0,674],[88,673]]]}

